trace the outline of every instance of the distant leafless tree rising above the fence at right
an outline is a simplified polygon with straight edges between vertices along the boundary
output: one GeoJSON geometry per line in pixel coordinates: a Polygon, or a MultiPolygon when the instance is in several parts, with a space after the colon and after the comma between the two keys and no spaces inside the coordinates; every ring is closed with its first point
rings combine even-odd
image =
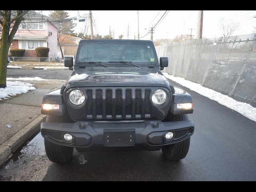
{"type": "Polygon", "coordinates": [[[239,28],[239,24],[234,20],[225,21],[224,18],[220,19],[220,30],[223,36],[223,41],[227,41],[232,34],[239,28]]]}

